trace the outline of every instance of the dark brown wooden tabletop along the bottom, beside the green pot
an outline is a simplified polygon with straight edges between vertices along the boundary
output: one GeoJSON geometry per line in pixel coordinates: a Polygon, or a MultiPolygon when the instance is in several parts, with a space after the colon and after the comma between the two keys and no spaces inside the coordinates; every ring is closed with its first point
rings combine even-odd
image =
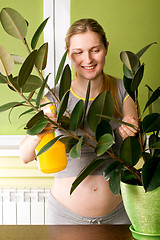
{"type": "Polygon", "coordinates": [[[0,240],[133,240],[128,225],[1,225],[0,240]]]}

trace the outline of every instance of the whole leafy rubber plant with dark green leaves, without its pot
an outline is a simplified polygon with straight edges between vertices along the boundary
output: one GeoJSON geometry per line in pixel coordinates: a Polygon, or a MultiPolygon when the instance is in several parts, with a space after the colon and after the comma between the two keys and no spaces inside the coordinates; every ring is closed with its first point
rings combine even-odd
{"type": "Polygon", "coordinates": [[[0,13],[0,21],[4,30],[12,37],[21,40],[28,51],[28,56],[23,59],[20,56],[10,54],[5,48],[0,46],[0,83],[6,84],[8,91],[15,91],[22,98],[22,101],[13,101],[0,106],[0,112],[7,110],[11,112],[13,108],[19,106],[26,107],[26,110],[19,117],[26,114],[34,114],[25,126],[26,133],[30,135],[40,133],[49,122],[53,123],[55,128],[60,128],[64,132],[64,135],[54,138],[38,154],[47,151],[58,139],[65,143],[66,151],[72,158],[80,157],[83,144],[94,149],[95,158],[79,173],[72,184],[70,193],[72,194],[75,188],[92,171],[107,161],[108,155],[115,161],[106,168],[104,177],[109,180],[110,188],[115,194],[120,194],[120,180],[122,178],[126,181],[143,185],[146,191],[152,191],[159,187],[160,138],[158,134],[160,130],[160,113],[158,110],[160,109],[160,87],[155,91],[149,86],[146,87],[149,99],[142,112],[138,104],[138,88],[144,73],[144,64],[141,64],[140,57],[154,43],[147,45],[136,54],[129,51],[124,51],[120,54],[123,62],[124,86],[135,102],[139,127],[135,137],[128,137],[123,141],[120,154],[117,156],[112,151],[114,136],[110,120],[129,126],[132,125],[113,118],[114,103],[111,93],[107,90],[103,91],[95,98],[90,108],[87,109],[90,85],[92,83],[92,81],[89,81],[85,101],[79,100],[73,111],[71,113],[67,112],[71,85],[71,70],[68,64],[65,66],[67,52],[62,57],[56,78],[54,79],[54,84],[60,85],[59,99],[56,98],[54,91],[48,86],[48,78],[52,75],[48,73],[45,78],[43,76],[43,70],[47,63],[48,43],[44,43],[40,48],[37,48],[37,42],[47,24],[48,18],[40,24],[37,31],[33,34],[30,46],[26,40],[29,23],[20,13],[11,8],[3,8],[0,13]],[[17,76],[13,76],[13,67],[16,63],[21,64],[21,67],[17,76]],[[37,71],[36,75],[32,73],[34,68],[37,71]],[[44,105],[41,105],[41,100],[45,88],[51,92],[56,102],[59,103],[57,122],[49,119],[42,110],[44,105]],[[146,109],[149,109],[149,114],[144,116],[146,109]],[[84,121],[87,121],[91,131],[88,132],[84,128],[84,121]],[[77,135],[78,128],[82,130],[82,136],[77,135]],[[146,134],[150,135],[147,136],[146,134]],[[137,169],[135,165],[142,158],[144,164],[142,168],[137,169]]]}

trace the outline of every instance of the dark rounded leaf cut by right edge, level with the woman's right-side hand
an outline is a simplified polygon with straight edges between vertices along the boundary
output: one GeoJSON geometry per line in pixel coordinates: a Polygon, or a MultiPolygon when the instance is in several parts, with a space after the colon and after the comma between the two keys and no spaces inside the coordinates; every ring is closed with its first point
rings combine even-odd
{"type": "Polygon", "coordinates": [[[147,115],[142,121],[142,129],[145,133],[160,130],[160,114],[151,113],[147,115]]]}

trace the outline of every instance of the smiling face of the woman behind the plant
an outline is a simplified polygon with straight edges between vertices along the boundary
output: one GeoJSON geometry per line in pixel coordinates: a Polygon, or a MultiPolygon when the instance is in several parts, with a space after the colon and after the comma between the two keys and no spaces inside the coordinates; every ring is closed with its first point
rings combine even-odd
{"type": "Polygon", "coordinates": [[[78,77],[96,79],[102,74],[107,49],[95,32],[73,35],[70,39],[69,58],[78,77]]]}

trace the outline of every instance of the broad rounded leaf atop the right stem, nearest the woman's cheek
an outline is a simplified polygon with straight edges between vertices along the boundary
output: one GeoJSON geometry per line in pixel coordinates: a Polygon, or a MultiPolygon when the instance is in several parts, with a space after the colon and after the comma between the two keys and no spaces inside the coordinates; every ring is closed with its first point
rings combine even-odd
{"type": "Polygon", "coordinates": [[[132,74],[137,71],[139,67],[139,58],[136,54],[130,51],[123,51],[120,53],[120,59],[132,74]]]}

